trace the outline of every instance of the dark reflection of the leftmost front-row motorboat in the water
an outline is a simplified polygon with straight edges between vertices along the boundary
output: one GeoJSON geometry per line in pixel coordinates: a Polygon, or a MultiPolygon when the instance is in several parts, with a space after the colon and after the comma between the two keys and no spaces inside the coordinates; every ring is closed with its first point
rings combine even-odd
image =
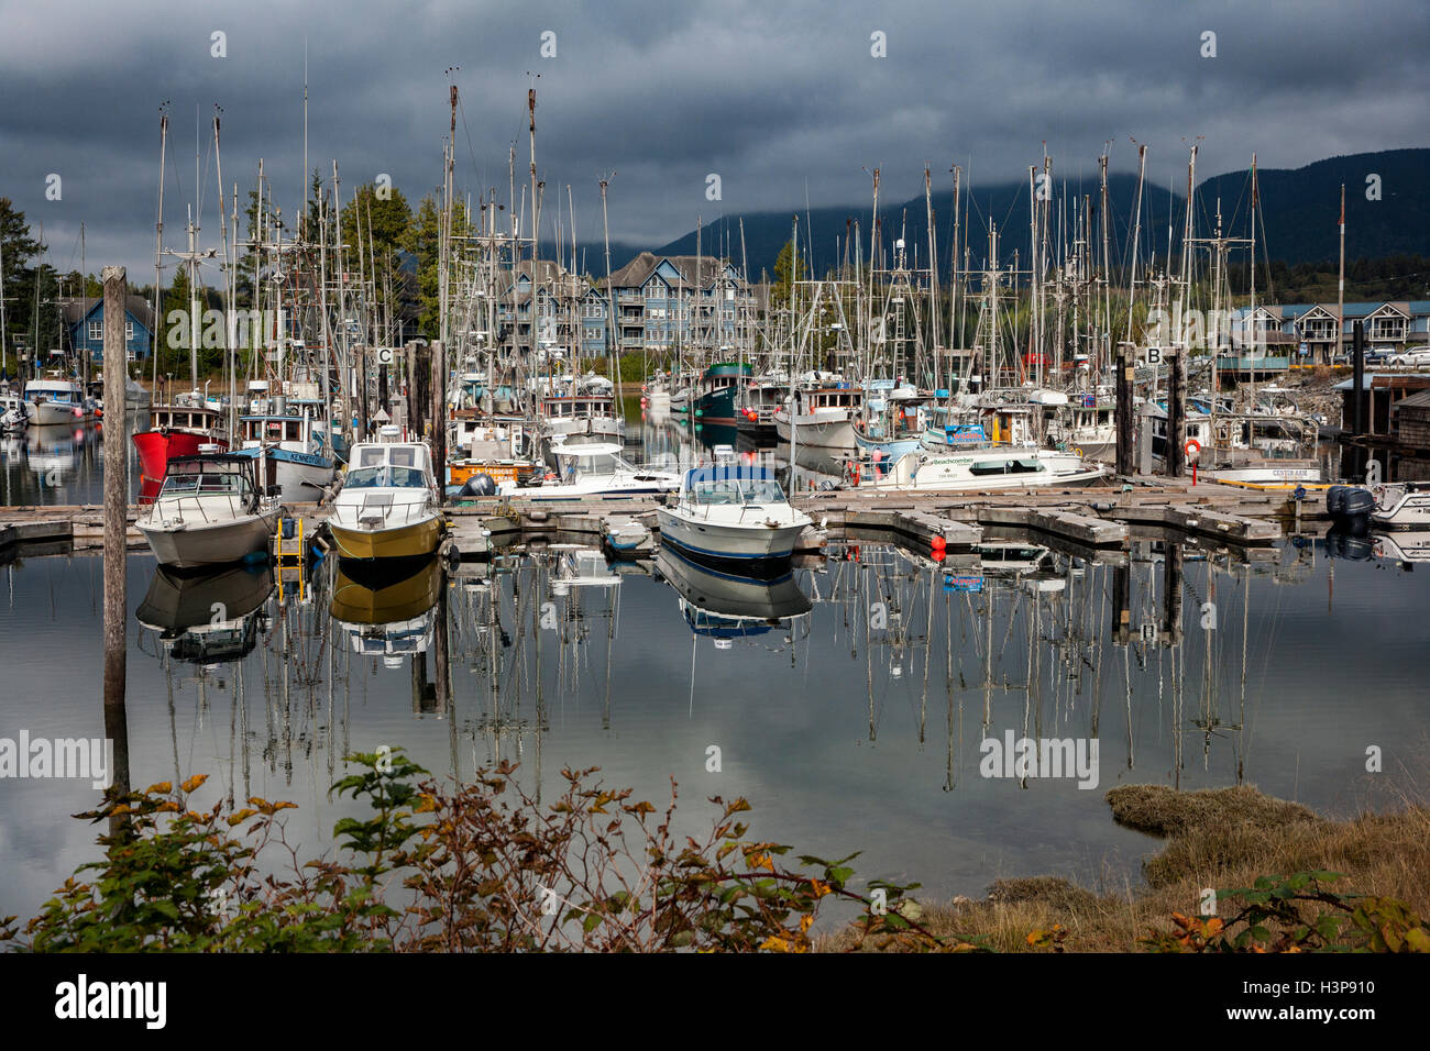
{"type": "Polygon", "coordinates": [[[233,565],[209,572],[156,566],[137,621],[159,632],[177,661],[220,663],[249,653],[263,629],[263,603],[273,593],[267,565],[233,565]]]}

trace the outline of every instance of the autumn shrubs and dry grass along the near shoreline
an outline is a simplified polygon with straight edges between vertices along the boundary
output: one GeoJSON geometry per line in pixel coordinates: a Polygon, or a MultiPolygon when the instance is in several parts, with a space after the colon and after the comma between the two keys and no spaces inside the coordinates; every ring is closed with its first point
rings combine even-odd
{"type": "Polygon", "coordinates": [[[285,838],[295,804],[196,809],[204,775],[109,789],[76,815],[106,828],[103,858],[23,927],[0,919],[0,949],[1430,951],[1430,808],[1410,798],[1337,821],[1246,785],[1120,785],[1113,819],[1165,839],[1141,885],[1044,875],[932,902],[857,881],[858,855],[749,839],[745,799],[712,796],[708,832],[679,835],[674,781],[656,808],[566,769],[541,804],[511,765],[450,785],[400,749],[347,762],[330,794],[368,814],[306,864],[285,838]],[[815,932],[828,902],[854,917],[815,932]]]}

